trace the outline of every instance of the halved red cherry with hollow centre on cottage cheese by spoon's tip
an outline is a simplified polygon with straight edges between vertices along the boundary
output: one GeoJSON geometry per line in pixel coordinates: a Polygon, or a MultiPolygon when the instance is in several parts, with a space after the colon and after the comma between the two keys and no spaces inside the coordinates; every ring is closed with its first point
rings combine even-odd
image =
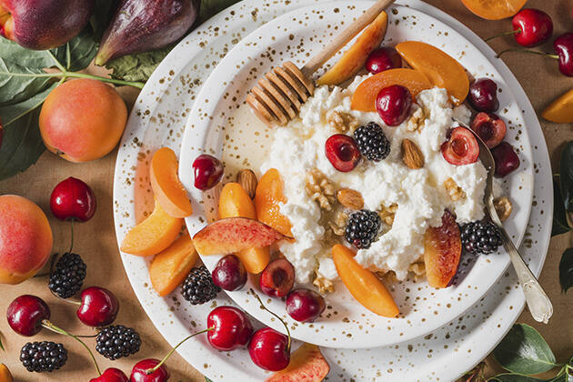
{"type": "Polygon", "coordinates": [[[479,156],[476,137],[467,128],[461,126],[452,130],[449,140],[442,144],[441,151],[447,163],[455,166],[474,163],[479,156]]]}

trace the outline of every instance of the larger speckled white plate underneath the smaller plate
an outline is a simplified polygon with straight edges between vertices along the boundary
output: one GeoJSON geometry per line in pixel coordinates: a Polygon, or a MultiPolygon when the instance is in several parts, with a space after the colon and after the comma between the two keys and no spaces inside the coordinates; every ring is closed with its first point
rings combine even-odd
{"type": "MultiPolygon", "coordinates": [[[[312,2],[315,3],[315,2],[312,2]]],[[[277,15],[308,5],[307,0],[275,2],[261,5],[246,1],[216,15],[173,50],[139,96],[126,128],[117,156],[114,182],[116,235],[120,242],[129,227],[141,221],[153,208],[148,161],[160,146],[179,150],[188,115],[196,92],[213,66],[244,35],[277,15]],[[204,48],[207,46],[206,48],[204,48]]],[[[402,1],[433,15],[453,30],[465,35],[496,65],[522,108],[535,164],[534,201],[526,238],[520,247],[536,275],[539,274],[548,248],[553,210],[548,151],[535,112],[527,95],[508,67],[495,60],[495,52],[466,26],[451,16],[421,1],[402,1]]],[[[122,254],[126,274],[146,314],[171,345],[181,337],[205,328],[207,314],[215,305],[233,305],[221,294],[213,305],[191,307],[178,292],[158,297],[149,284],[147,265],[150,259],[122,254]]],[[[452,380],[474,367],[488,355],[507,333],[524,298],[513,271],[508,270],[476,305],[447,326],[427,337],[390,347],[363,350],[323,348],[331,367],[328,380],[452,380]]],[[[294,347],[297,347],[295,343],[294,347]]],[[[267,374],[254,367],[246,350],[217,352],[196,337],[178,349],[179,353],[207,377],[214,380],[262,380],[267,374]]]]}

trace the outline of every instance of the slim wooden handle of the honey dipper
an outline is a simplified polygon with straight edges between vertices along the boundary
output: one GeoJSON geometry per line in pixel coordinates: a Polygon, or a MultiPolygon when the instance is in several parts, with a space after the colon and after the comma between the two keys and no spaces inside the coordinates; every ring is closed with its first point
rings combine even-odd
{"type": "Polygon", "coordinates": [[[307,62],[307,65],[302,67],[302,72],[307,75],[307,77],[310,77],[320,66],[324,65],[330,57],[336,55],[344,45],[347,45],[348,41],[352,40],[362,29],[372,23],[377,15],[386,9],[388,5],[394,3],[394,1],[395,0],[377,0],[377,2],[369,7],[364,14],[358,17],[354,23],[348,25],[340,35],[337,35],[330,44],[325,46],[318,55],[312,57],[310,61],[307,62]]]}

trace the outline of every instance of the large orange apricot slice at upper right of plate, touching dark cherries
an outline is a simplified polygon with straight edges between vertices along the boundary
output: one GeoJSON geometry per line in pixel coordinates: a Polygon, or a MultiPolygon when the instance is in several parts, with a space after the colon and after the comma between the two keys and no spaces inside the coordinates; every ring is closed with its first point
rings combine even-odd
{"type": "Polygon", "coordinates": [[[464,66],[436,46],[419,41],[405,41],[396,45],[397,52],[416,70],[419,70],[432,85],[443,87],[456,98],[457,105],[464,102],[469,91],[469,79],[464,66]]]}

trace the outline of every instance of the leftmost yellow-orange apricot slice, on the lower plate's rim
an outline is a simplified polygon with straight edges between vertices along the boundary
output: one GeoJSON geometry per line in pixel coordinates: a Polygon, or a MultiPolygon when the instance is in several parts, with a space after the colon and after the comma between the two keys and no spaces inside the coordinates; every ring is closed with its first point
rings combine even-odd
{"type": "Polygon", "coordinates": [[[175,241],[183,219],[166,213],[156,200],[153,213],[127,232],[120,249],[130,255],[152,256],[175,241]]]}

